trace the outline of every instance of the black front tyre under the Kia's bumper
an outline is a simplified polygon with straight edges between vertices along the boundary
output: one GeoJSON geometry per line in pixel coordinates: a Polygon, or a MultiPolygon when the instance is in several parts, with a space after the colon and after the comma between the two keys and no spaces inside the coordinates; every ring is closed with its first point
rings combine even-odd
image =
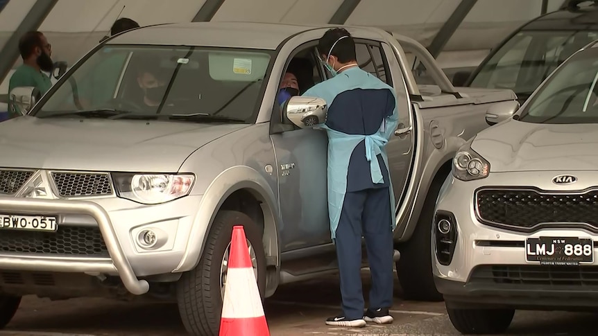
{"type": "Polygon", "coordinates": [[[511,325],[514,309],[447,308],[454,328],[463,335],[502,334],[511,325]]]}

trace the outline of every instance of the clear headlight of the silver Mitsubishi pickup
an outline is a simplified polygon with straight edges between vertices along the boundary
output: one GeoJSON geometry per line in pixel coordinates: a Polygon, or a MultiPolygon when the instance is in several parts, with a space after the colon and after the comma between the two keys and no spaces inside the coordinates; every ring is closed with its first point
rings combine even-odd
{"type": "Polygon", "coordinates": [[[117,195],[142,204],[160,204],[189,195],[193,174],[112,174],[117,195]]]}

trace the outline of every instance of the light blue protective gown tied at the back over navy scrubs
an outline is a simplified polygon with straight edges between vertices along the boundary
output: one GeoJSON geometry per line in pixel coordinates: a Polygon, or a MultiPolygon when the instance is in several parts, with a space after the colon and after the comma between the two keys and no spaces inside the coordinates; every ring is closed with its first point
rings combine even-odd
{"type": "MultiPolygon", "coordinates": [[[[396,93],[393,87],[379,80],[372,74],[359,69],[359,67],[348,68],[338,75],[325,80],[311,89],[307,90],[302,96],[322,98],[330,107],[334,104],[334,98],[343,91],[352,89],[388,89],[392,92],[396,101],[396,93]]],[[[327,127],[325,123],[318,125],[326,130],[328,135],[328,168],[327,168],[327,186],[328,186],[328,215],[330,216],[330,232],[332,240],[336,238],[336,227],[341,218],[341,209],[347,191],[347,175],[349,161],[354,148],[365,139],[366,158],[370,162],[370,172],[372,173],[372,182],[375,184],[383,183],[382,170],[380,169],[377,154],[382,154],[384,164],[388,168],[388,188],[390,191],[391,218],[393,218],[393,229],[395,229],[395,197],[393,185],[390,181],[390,168],[388,166],[388,157],[384,145],[391,139],[399,122],[398,104],[395,104],[393,114],[385,118],[378,132],[372,135],[345,134],[327,127]]]]}

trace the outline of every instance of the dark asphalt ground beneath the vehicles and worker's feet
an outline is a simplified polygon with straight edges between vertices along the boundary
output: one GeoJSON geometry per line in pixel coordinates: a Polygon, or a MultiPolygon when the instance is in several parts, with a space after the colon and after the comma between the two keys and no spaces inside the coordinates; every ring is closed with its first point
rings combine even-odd
{"type": "MultiPolygon", "coordinates": [[[[368,273],[364,271],[364,292],[368,273]]],[[[272,336],[305,335],[460,335],[446,315],[444,303],[403,301],[395,284],[392,325],[366,328],[326,326],[339,312],[338,279],[327,276],[284,285],[266,299],[264,311],[272,336]]],[[[595,314],[517,312],[505,335],[598,335],[595,314]]],[[[176,305],[130,303],[109,299],[49,301],[25,297],[11,323],[0,335],[186,335],[176,305]]]]}

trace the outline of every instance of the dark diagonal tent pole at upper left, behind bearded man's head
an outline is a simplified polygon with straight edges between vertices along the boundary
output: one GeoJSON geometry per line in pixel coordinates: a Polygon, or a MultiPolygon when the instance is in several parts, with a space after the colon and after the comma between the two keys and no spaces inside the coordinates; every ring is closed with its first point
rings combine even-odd
{"type": "MultiPolygon", "coordinates": [[[[4,80],[6,75],[15,65],[17,58],[19,58],[19,39],[29,30],[37,30],[42,25],[46,16],[55,6],[58,0],[37,0],[26,17],[21,21],[17,29],[12,32],[6,44],[4,44],[0,51],[0,78],[4,80]]],[[[0,80],[0,81],[1,81],[0,80]]]]}

